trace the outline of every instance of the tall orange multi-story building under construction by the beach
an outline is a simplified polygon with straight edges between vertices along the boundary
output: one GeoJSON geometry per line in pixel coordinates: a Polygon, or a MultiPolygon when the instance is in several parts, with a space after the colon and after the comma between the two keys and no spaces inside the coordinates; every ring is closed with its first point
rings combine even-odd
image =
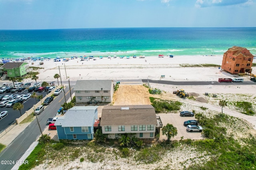
{"type": "Polygon", "coordinates": [[[231,74],[252,72],[253,55],[244,47],[228,49],[223,55],[221,69],[231,74]]]}

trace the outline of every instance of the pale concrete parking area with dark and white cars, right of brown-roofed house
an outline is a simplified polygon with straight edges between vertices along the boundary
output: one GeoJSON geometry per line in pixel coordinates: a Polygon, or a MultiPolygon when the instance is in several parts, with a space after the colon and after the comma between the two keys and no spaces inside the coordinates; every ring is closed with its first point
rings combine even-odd
{"type": "MultiPolygon", "coordinates": [[[[160,113],[157,115],[160,116],[163,123],[163,127],[164,125],[169,123],[177,128],[178,134],[174,138],[171,138],[171,140],[172,139],[180,140],[181,137],[183,137],[183,139],[203,139],[204,138],[201,132],[189,132],[186,130],[186,126],[183,125],[184,121],[195,120],[195,117],[190,117],[190,116],[182,117],[180,116],[180,113],[160,113]]],[[[163,139],[167,140],[167,137],[166,135],[162,135],[162,129],[161,129],[160,140],[163,140],[163,139]]]]}

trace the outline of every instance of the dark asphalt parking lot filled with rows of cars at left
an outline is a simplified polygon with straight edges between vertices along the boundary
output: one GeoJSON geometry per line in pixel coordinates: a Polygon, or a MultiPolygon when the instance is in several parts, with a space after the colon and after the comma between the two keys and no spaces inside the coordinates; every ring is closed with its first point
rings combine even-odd
{"type": "MultiPolygon", "coordinates": [[[[14,92],[14,93],[1,93],[0,96],[5,96],[5,95],[22,95],[22,94],[33,94],[34,92],[28,92],[28,88],[26,88],[24,91],[22,92],[14,92]]],[[[46,96],[47,92],[36,92],[36,94],[38,96],[43,95],[43,97],[46,96]]],[[[37,102],[39,100],[37,99],[37,102]]],[[[2,102],[2,101],[0,101],[2,102]]],[[[28,100],[23,102],[24,108],[21,109],[21,113],[22,115],[25,113],[25,111],[27,111],[28,109],[30,109],[34,104],[36,104],[36,99],[35,98],[29,98],[28,100]]],[[[0,111],[8,111],[8,115],[5,116],[4,118],[2,118],[0,120],[0,131],[2,131],[3,129],[5,129],[6,127],[8,127],[13,121],[15,121],[16,118],[20,117],[20,111],[19,110],[14,110],[12,107],[0,107],[0,111]]]]}

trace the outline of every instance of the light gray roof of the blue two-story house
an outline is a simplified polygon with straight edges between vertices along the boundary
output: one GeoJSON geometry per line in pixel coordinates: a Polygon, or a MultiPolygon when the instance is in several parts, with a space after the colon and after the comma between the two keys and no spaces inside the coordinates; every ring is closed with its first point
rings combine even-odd
{"type": "Polygon", "coordinates": [[[68,109],[63,119],[57,119],[55,125],[62,127],[90,127],[95,121],[98,106],[76,106],[68,109]]]}

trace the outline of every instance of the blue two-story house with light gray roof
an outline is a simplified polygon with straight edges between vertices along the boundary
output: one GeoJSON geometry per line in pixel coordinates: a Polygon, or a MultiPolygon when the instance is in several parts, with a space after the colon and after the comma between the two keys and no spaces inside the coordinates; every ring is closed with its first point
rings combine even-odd
{"type": "Polygon", "coordinates": [[[98,119],[98,106],[75,106],[59,117],[55,126],[59,139],[92,140],[95,119],[98,119]]]}

